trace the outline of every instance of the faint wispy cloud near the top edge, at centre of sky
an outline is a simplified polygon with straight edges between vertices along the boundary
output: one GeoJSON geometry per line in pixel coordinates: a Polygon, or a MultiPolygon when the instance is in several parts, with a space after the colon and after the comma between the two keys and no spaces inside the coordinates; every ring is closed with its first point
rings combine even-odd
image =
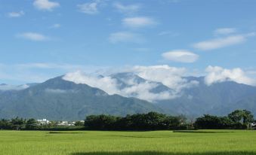
{"type": "Polygon", "coordinates": [[[134,14],[140,9],[140,5],[122,5],[121,3],[114,3],[113,6],[119,12],[122,12],[124,14],[134,14]]]}

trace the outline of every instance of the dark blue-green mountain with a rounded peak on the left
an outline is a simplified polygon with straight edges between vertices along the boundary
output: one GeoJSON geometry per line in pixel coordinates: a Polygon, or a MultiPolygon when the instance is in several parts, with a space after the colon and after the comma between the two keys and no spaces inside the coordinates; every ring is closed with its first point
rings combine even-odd
{"type": "Polygon", "coordinates": [[[136,114],[162,110],[150,102],[109,96],[86,84],[62,77],[35,84],[25,90],[0,93],[0,117],[34,117],[50,120],[82,120],[88,114],[136,114]]]}

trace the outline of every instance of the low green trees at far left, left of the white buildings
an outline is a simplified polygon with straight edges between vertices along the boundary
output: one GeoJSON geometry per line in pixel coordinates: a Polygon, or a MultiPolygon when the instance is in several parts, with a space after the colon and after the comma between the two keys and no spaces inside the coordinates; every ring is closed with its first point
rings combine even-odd
{"type": "Polygon", "coordinates": [[[35,119],[13,118],[11,120],[0,120],[0,129],[35,129],[38,126],[35,119]]]}

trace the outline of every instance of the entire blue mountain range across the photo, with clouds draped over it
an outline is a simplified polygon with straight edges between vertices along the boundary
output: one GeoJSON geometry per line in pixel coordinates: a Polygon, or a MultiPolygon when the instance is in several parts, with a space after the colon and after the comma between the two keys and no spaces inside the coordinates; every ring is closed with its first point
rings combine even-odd
{"type": "Polygon", "coordinates": [[[256,87],[233,81],[207,85],[204,77],[183,77],[187,87],[174,89],[130,72],[95,79],[99,81],[85,84],[63,75],[40,84],[0,84],[0,118],[83,120],[90,114],[124,116],[149,111],[194,118],[225,115],[235,109],[256,115],[256,87]],[[109,79],[115,87],[98,84],[109,79]]]}

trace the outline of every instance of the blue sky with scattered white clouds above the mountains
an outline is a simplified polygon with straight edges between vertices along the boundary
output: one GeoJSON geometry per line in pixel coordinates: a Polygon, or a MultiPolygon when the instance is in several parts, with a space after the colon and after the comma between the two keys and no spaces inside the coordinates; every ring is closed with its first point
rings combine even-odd
{"type": "Polygon", "coordinates": [[[207,75],[209,84],[230,78],[255,85],[255,6],[251,0],[0,0],[0,84],[156,66],[207,75]]]}

